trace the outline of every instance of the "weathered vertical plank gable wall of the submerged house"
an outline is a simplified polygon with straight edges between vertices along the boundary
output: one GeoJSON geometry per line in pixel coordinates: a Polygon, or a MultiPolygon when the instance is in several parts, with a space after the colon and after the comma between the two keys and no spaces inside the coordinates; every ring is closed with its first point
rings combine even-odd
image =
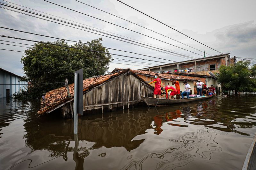
{"type": "Polygon", "coordinates": [[[127,72],[86,92],[84,110],[103,113],[134,107],[143,102],[140,95],[153,97],[153,89],[127,72]]]}

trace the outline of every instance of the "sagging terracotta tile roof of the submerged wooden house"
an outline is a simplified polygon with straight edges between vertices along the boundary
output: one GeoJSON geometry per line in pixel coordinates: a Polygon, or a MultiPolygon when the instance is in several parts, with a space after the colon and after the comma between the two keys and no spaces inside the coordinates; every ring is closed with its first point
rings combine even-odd
{"type": "MultiPolygon", "coordinates": [[[[127,71],[131,71],[131,73],[139,78],[141,81],[143,81],[144,83],[148,84],[147,82],[145,82],[142,78],[140,78],[139,76],[137,76],[132,70],[130,69],[115,69],[114,71],[112,71],[109,74],[105,74],[105,75],[101,75],[101,76],[94,76],[91,78],[87,78],[84,79],[84,92],[97,86],[100,85],[104,82],[106,82],[107,80],[114,78],[118,75],[121,75],[127,71]]],[[[149,85],[150,86],[150,85],[149,85]]],[[[69,102],[72,101],[74,99],[74,83],[68,85],[69,87],[69,92],[71,97],[68,98],[68,94],[67,94],[67,90],[65,87],[60,87],[58,89],[54,89],[52,91],[49,91],[46,93],[45,95],[45,101],[44,101],[44,107],[41,108],[37,114],[41,115],[44,114],[46,112],[49,112],[51,110],[53,110],[54,108],[60,106],[61,104],[65,103],[65,102],[69,102]]],[[[150,86],[152,87],[152,86],[150,86]]],[[[154,87],[152,87],[154,88],[154,87]]]]}

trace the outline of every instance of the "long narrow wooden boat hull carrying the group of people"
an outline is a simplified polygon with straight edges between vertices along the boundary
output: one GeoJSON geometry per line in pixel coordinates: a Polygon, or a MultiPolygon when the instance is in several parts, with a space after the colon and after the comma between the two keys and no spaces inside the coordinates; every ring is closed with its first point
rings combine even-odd
{"type": "Polygon", "coordinates": [[[198,97],[198,98],[191,98],[191,99],[164,99],[164,98],[152,98],[152,97],[146,97],[146,96],[141,96],[143,101],[148,105],[148,106],[165,106],[165,105],[172,105],[172,104],[179,104],[179,103],[188,103],[188,102],[194,102],[198,100],[206,100],[210,99],[213,96],[205,96],[205,97],[198,97]]]}

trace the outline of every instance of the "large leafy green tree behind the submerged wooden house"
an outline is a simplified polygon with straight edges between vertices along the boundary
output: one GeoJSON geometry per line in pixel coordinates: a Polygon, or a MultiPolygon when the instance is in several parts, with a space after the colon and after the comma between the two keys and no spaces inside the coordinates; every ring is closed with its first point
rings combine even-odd
{"type": "Polygon", "coordinates": [[[51,44],[35,43],[34,47],[25,50],[26,55],[21,58],[25,73],[23,79],[35,84],[28,90],[28,95],[38,98],[43,93],[64,85],[48,83],[64,82],[65,78],[68,78],[69,84],[74,83],[74,71],[79,69],[84,69],[84,78],[105,74],[112,61],[111,55],[83,50],[108,53],[101,41],[101,38],[88,41],[88,45],[81,42],[68,45],[64,40],[47,41],[51,44]]]}

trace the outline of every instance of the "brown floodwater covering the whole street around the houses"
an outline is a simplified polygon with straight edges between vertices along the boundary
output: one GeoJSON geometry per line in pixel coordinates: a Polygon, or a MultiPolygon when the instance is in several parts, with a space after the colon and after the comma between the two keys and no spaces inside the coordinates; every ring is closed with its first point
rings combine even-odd
{"type": "Polygon", "coordinates": [[[256,133],[253,94],[81,116],[75,137],[39,105],[0,99],[1,170],[240,170],[256,133]]]}

